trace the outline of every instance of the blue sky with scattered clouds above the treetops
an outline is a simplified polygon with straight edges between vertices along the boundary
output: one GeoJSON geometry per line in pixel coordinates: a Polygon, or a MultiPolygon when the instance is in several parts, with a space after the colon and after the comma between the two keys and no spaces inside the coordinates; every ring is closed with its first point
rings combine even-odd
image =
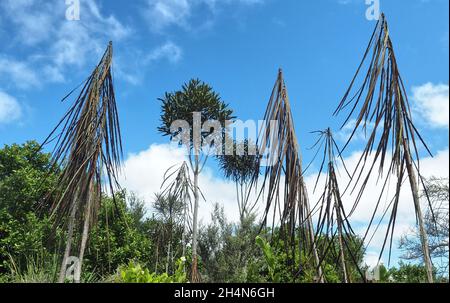
{"type": "MultiPolygon", "coordinates": [[[[198,77],[211,84],[240,119],[258,120],[279,67],[309,162],[313,154],[307,147],[316,139],[310,132],[328,126],[339,131],[343,117],[333,118],[332,112],[375,26],[365,17],[364,0],[80,3],[80,20],[68,21],[64,1],[0,0],[0,145],[45,139],[69,106],[59,100],[89,75],[113,40],[128,164],[142,168],[139,159],[149,164],[147,156],[167,156],[161,150],[167,138],[156,130],[157,98],[164,92],[198,77]]],[[[428,159],[429,174],[443,176],[448,169],[442,171],[436,161],[448,163],[448,6],[447,0],[381,0],[415,120],[433,153],[441,157],[428,159]]],[[[337,136],[343,138],[345,132],[337,136]]],[[[350,160],[363,143],[361,139],[351,146],[350,160]]],[[[205,187],[223,186],[227,191],[213,164],[205,187]]],[[[130,181],[135,179],[128,177],[126,185],[149,198],[156,185],[143,189],[146,184],[130,181]]],[[[226,201],[218,202],[232,209],[226,201]]],[[[407,222],[411,217],[405,226],[407,222]]]]}

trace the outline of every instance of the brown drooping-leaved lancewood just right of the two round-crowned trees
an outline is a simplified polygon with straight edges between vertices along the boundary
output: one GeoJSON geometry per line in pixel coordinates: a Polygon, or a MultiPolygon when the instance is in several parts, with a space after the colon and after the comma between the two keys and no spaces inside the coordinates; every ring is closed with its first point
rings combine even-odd
{"type": "Polygon", "coordinates": [[[286,253],[290,256],[294,276],[303,271],[302,264],[298,267],[295,264],[296,249],[299,249],[301,254],[312,255],[317,276],[320,282],[324,282],[291,104],[281,69],[263,120],[265,125],[261,128],[256,143],[260,157],[251,179],[251,188],[257,188],[257,199],[265,200],[263,225],[267,225],[268,216],[272,212],[272,230],[278,221],[285,246],[290,250],[286,253]],[[296,237],[296,233],[299,236],[296,237]],[[296,239],[299,239],[299,243],[296,243],[296,239]]]}

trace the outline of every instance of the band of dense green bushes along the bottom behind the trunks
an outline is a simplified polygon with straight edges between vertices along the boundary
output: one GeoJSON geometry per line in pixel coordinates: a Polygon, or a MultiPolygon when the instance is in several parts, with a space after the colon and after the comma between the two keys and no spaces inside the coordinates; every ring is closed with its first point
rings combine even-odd
{"type": "MultiPolygon", "coordinates": [[[[49,168],[49,159],[35,142],[0,149],[0,282],[57,280],[66,235],[64,230],[54,228],[48,207],[40,203],[58,173],[49,168]]],[[[103,198],[89,237],[84,282],[187,281],[192,251],[189,246],[183,247],[180,203],[160,195],[150,202],[151,215],[146,213],[144,201],[125,191],[115,199],[103,198]]],[[[260,227],[253,215],[239,223],[228,222],[223,208],[216,205],[211,222],[199,228],[202,281],[317,281],[311,256],[297,251],[295,264],[291,264],[279,230],[260,233],[260,227]],[[299,270],[293,272],[293,268],[299,270]]],[[[185,237],[184,243],[189,243],[192,233],[185,237]]],[[[319,238],[319,246],[321,241],[325,239],[319,238]]],[[[360,239],[349,243],[354,243],[352,254],[362,262],[360,239]]],[[[343,279],[335,258],[337,255],[330,254],[322,264],[327,282],[343,279]]],[[[347,265],[350,279],[361,282],[352,264],[347,265]]],[[[399,268],[384,269],[381,275],[381,282],[424,281],[425,269],[416,264],[402,263],[399,268]]]]}

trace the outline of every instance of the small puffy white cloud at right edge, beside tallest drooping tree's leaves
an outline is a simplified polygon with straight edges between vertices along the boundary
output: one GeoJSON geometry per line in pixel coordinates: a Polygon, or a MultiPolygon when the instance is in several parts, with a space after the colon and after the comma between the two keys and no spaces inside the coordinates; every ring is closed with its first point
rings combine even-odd
{"type": "Polygon", "coordinates": [[[426,83],[412,89],[416,112],[433,128],[448,128],[448,84],[426,83]]]}

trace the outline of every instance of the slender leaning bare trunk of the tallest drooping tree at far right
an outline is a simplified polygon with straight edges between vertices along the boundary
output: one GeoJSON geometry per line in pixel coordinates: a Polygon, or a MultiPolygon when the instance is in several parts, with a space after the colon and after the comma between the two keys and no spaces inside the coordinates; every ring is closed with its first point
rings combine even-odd
{"type": "Polygon", "coordinates": [[[414,200],[414,206],[416,208],[416,214],[419,224],[420,242],[422,244],[423,259],[425,268],[427,270],[428,283],[433,283],[433,265],[431,263],[430,249],[428,245],[428,235],[425,229],[425,223],[423,220],[422,208],[420,206],[419,187],[417,186],[416,174],[414,173],[411,154],[406,140],[403,141],[406,169],[408,170],[409,183],[411,184],[411,191],[414,200]]]}

